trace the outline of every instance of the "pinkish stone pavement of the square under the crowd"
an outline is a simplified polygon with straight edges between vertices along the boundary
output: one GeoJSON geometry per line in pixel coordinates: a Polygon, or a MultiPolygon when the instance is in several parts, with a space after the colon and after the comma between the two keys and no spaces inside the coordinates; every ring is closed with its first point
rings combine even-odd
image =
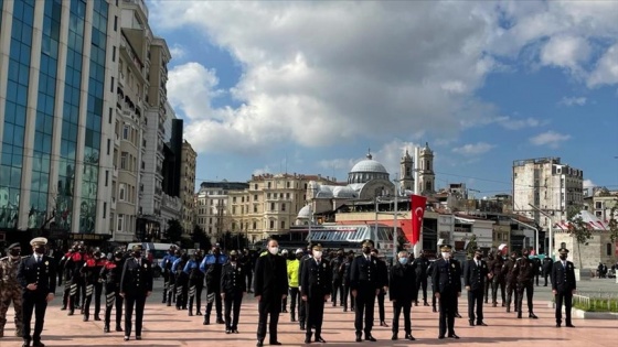
{"type": "MultiPolygon", "coordinates": [[[[82,316],[67,316],[60,311],[61,297],[56,296],[47,308],[43,343],[46,346],[255,346],[257,327],[257,305],[253,296],[245,296],[238,325],[238,335],[226,335],[224,326],[202,325],[203,317],[189,317],[185,311],[177,311],[160,303],[161,281],[156,282],[156,292],[146,306],[143,339],[138,341],[131,336],[130,341],[122,340],[122,333],[103,333],[103,322],[82,322],[82,316]]],[[[541,283],[542,284],[542,283],[541,283]]],[[[612,280],[592,280],[579,283],[582,291],[616,291],[618,284],[612,280]]],[[[550,288],[535,288],[534,312],[539,319],[516,319],[514,313],[507,314],[502,307],[484,306],[487,327],[471,327],[466,318],[466,293],[459,301],[459,312],[464,318],[456,319],[456,333],[459,340],[437,339],[438,315],[431,307],[413,307],[413,335],[416,341],[391,340],[391,328],[376,324],[373,335],[377,343],[354,343],[354,313],[343,313],[341,307],[331,307],[328,303],[324,311],[322,336],[327,345],[335,346],[434,346],[457,344],[458,346],[479,346],[498,344],[500,346],[616,346],[618,329],[616,321],[574,319],[576,328],[555,328],[554,313],[547,307],[551,297],[550,288]]],[[[60,290],[58,290],[60,294],[60,290]]],[[[251,294],[249,294],[251,295],[251,294]]],[[[205,297],[205,294],[203,295],[205,297]]],[[[524,311],[526,310],[524,303],[524,311]]],[[[202,308],[202,312],[204,308],[202,308]]],[[[387,323],[391,325],[392,306],[386,303],[387,323]]],[[[90,316],[92,317],[92,316],[90,316]]],[[[377,323],[377,303],[376,303],[377,323]]],[[[21,339],[12,337],[12,307],[9,316],[6,337],[0,338],[0,347],[21,346],[21,339]]],[[[214,319],[212,319],[214,321],[214,319]]],[[[399,332],[399,337],[404,333],[399,332]]],[[[279,340],[286,346],[301,346],[305,332],[298,329],[297,323],[289,322],[289,314],[281,314],[279,319],[279,340]]],[[[312,344],[313,346],[320,344],[312,344]]]]}

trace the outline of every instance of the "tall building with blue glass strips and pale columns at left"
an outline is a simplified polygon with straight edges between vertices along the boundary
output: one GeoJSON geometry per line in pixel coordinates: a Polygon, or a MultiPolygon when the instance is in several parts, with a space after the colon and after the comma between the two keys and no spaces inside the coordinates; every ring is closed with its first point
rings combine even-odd
{"type": "Polygon", "coordinates": [[[119,9],[0,0],[0,230],[107,234],[119,9]]]}

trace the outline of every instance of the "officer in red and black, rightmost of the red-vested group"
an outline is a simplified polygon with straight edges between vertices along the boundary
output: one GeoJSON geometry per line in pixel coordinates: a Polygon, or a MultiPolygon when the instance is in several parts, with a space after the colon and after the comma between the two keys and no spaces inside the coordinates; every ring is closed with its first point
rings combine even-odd
{"type": "Polygon", "coordinates": [[[120,296],[120,278],[122,275],[124,252],[114,252],[110,259],[100,270],[99,278],[105,283],[105,326],[104,333],[109,333],[111,308],[116,306],[116,332],[122,332],[120,321],[122,319],[122,296],[120,296]]]}

